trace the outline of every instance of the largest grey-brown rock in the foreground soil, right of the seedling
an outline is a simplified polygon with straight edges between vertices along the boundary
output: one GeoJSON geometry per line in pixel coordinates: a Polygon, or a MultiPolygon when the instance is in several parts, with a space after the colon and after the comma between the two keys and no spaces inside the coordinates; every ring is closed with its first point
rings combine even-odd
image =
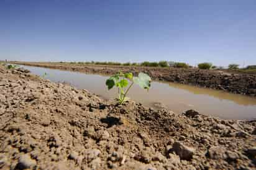
{"type": "Polygon", "coordinates": [[[173,151],[175,151],[181,159],[190,160],[194,154],[194,148],[190,148],[188,146],[183,145],[179,141],[176,141],[173,144],[173,151]]]}

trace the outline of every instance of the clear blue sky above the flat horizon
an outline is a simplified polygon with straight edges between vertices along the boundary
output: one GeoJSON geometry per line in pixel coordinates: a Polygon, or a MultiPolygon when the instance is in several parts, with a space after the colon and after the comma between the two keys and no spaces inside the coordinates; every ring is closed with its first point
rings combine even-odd
{"type": "Polygon", "coordinates": [[[1,0],[5,59],[256,65],[256,1],[1,0]]]}

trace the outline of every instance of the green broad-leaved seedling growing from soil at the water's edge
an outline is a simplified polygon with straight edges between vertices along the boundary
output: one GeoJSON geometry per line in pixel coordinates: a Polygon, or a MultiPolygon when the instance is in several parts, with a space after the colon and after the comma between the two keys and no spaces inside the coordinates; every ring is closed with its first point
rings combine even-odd
{"type": "Polygon", "coordinates": [[[116,86],[118,88],[119,104],[123,104],[127,100],[127,93],[134,84],[138,84],[142,89],[149,90],[151,78],[145,73],[139,73],[138,77],[134,77],[132,73],[117,73],[106,80],[107,89],[110,90],[116,86]],[[126,87],[130,86],[126,89],[126,87]]]}

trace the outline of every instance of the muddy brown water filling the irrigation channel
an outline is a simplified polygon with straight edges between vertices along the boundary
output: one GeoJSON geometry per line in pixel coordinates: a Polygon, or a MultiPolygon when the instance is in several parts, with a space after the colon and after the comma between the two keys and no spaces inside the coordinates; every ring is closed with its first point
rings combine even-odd
{"type": "MultiPolygon", "coordinates": [[[[87,89],[105,99],[114,99],[117,95],[117,89],[108,91],[105,86],[105,81],[109,76],[34,66],[21,67],[39,76],[47,73],[43,77],[50,81],[65,82],[78,89],[87,89]]],[[[128,97],[149,107],[158,108],[156,104],[161,103],[178,114],[194,109],[201,114],[222,119],[256,119],[256,98],[254,97],[185,84],[153,81],[149,92],[135,85],[129,91],[128,97]]]]}

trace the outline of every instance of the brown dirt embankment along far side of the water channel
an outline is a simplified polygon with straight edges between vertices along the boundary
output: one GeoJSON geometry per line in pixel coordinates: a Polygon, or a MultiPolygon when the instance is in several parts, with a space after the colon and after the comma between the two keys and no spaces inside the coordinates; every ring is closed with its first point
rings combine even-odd
{"type": "Polygon", "coordinates": [[[114,74],[120,70],[138,74],[142,71],[149,74],[152,79],[156,80],[191,84],[193,86],[219,89],[235,94],[256,96],[255,74],[230,74],[217,70],[201,70],[191,68],[148,68],[134,66],[78,65],[69,63],[31,63],[21,61],[12,63],[96,74],[114,74]]]}

